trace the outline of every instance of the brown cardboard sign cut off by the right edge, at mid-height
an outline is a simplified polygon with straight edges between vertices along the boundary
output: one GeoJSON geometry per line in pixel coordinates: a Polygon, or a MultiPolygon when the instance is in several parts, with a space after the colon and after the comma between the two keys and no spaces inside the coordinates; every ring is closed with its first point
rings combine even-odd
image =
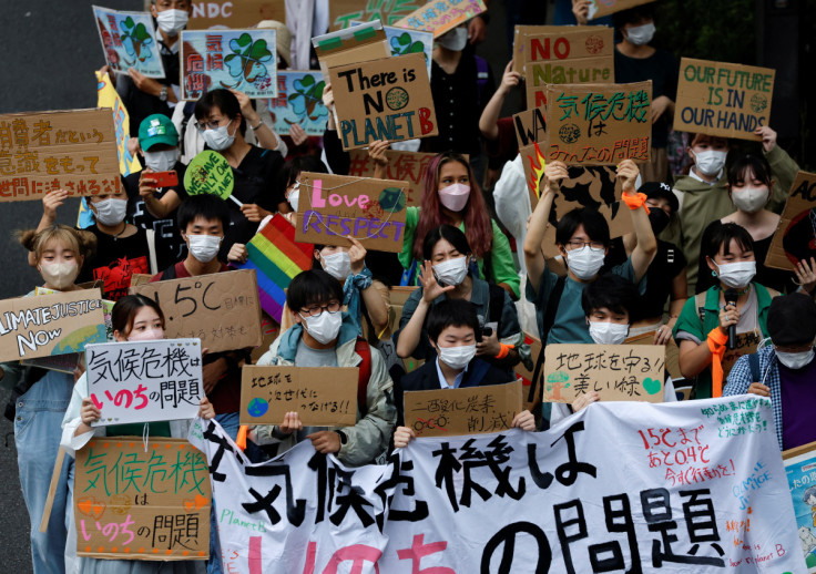
{"type": "Polygon", "coordinates": [[[782,212],[765,265],[794,270],[802,259],[816,257],[816,174],[799,172],[782,212]]]}

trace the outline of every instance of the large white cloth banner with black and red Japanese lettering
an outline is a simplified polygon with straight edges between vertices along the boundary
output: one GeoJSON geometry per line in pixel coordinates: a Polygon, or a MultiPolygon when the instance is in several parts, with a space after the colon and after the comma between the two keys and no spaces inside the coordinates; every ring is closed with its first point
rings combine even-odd
{"type": "Polygon", "coordinates": [[[346,469],[207,455],[226,572],[805,572],[771,403],[599,402],[547,432],[427,438],[346,469]]]}

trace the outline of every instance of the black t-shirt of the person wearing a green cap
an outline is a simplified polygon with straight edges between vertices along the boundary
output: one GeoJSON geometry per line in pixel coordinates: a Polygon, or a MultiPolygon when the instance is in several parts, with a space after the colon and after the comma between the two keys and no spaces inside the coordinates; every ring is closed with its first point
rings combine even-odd
{"type": "MultiPolygon", "coordinates": [[[[184,189],[184,170],[185,165],[176,162],[173,170],[178,174],[178,186],[159,188],[154,194],[156,199],[161,199],[169,191],[178,194],[178,198],[184,201],[187,193],[184,189]]],[[[153,216],[144,205],[144,199],[139,195],[139,178],[142,172],[135,172],[124,177],[124,189],[128,193],[128,219],[130,223],[141,229],[153,229],[154,243],[156,248],[156,265],[160,269],[170,267],[175,262],[180,262],[187,256],[187,244],[182,239],[178,230],[178,222],[175,212],[171,213],[164,219],[157,219],[153,216]]]]}

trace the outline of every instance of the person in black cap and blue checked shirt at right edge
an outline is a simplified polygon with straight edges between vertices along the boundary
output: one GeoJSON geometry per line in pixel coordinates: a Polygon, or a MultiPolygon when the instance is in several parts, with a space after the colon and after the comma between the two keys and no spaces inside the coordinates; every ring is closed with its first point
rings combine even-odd
{"type": "Polygon", "coordinates": [[[767,318],[771,344],[737,359],[724,397],[771,397],[779,449],[816,441],[810,404],[816,391],[816,304],[800,293],[775,298],[767,318]]]}

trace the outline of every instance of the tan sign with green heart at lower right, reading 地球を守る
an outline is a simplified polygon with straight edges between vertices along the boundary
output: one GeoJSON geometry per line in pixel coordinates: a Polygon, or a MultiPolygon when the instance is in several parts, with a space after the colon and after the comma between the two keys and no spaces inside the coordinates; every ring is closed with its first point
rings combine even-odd
{"type": "Polygon", "coordinates": [[[571,403],[595,391],[604,401],[663,402],[662,345],[544,347],[544,402],[571,403]]]}

